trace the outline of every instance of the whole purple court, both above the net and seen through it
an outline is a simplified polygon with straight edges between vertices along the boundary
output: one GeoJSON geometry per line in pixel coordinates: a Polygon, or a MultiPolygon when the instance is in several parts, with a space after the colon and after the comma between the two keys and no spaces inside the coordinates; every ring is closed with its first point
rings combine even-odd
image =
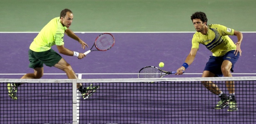
{"type": "MultiPolygon", "coordinates": [[[[80,100],[79,124],[216,124],[256,122],[255,81],[236,81],[239,110],[215,110],[219,98],[204,88],[200,81],[158,81],[155,83],[129,82],[136,79],[139,69],[158,66],[175,71],[186,59],[191,49],[194,33],[112,33],[116,43],[108,51],[89,53],[85,59],[62,55],[82,79],[113,79],[97,82],[97,93],[87,100],[80,100]],[[123,79],[118,83],[114,79],[123,79]]],[[[22,74],[33,72],[28,68],[27,51],[37,33],[0,33],[1,79],[19,79],[22,74]]],[[[77,33],[89,48],[99,33],[77,33]]],[[[255,33],[243,33],[242,56],[235,65],[233,76],[255,76],[256,62],[253,47],[255,33]]],[[[236,37],[231,37],[236,42],[236,37]]],[[[77,52],[82,50],[77,41],[64,38],[65,47],[77,52]]],[[[55,47],[54,50],[57,51],[55,47]]],[[[186,74],[165,78],[201,77],[211,52],[200,45],[196,59],[186,74]]],[[[57,68],[44,66],[42,79],[67,79],[57,68]]],[[[85,82],[85,85],[89,83],[85,82]]],[[[226,91],[224,81],[216,81],[226,91]]],[[[0,83],[0,122],[13,124],[69,124],[72,123],[71,83],[25,83],[20,87],[19,100],[7,95],[6,83],[0,83]],[[34,90],[31,90],[34,89],[34,90]],[[49,107],[50,106],[50,107],[49,107]],[[12,116],[13,115],[13,116],[12,116]],[[58,120],[58,121],[57,121],[58,120]]]]}

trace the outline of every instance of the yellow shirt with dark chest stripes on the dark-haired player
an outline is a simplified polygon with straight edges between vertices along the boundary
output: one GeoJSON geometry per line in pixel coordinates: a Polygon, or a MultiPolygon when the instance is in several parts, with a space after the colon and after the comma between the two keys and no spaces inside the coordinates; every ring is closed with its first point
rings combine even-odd
{"type": "Polygon", "coordinates": [[[228,35],[234,35],[234,29],[219,24],[208,25],[206,35],[196,32],[192,38],[192,48],[199,48],[199,44],[206,46],[213,56],[225,55],[230,50],[236,50],[235,43],[228,35]]]}

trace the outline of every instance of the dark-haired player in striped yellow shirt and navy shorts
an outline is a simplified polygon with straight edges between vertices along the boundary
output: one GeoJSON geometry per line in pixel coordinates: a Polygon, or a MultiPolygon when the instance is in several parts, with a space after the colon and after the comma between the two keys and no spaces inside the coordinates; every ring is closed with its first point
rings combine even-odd
{"type": "MultiPolygon", "coordinates": [[[[192,47],[189,55],[186,57],[184,64],[177,69],[176,74],[183,74],[182,71],[185,71],[194,61],[196,52],[199,50],[199,44],[201,43],[212,52],[202,77],[232,77],[231,72],[233,72],[234,65],[242,53],[240,45],[243,34],[219,24],[207,25],[207,17],[204,12],[195,12],[192,14],[191,20],[197,32],[194,33],[192,38],[192,47]],[[237,42],[234,43],[229,38],[229,35],[236,36],[237,42]]],[[[219,95],[220,101],[215,106],[215,109],[223,109],[229,105],[228,111],[237,110],[234,81],[226,81],[229,97],[212,81],[202,81],[202,84],[212,93],[219,95]]]]}

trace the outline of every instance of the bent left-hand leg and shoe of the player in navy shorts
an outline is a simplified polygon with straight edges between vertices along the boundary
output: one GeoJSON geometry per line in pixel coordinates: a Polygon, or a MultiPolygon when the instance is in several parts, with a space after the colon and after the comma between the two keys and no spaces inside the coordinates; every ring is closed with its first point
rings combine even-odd
{"type": "MultiPolygon", "coordinates": [[[[204,71],[202,77],[214,77],[215,74],[209,72],[209,71],[204,71]]],[[[214,107],[215,109],[222,109],[229,105],[229,98],[228,96],[223,93],[219,87],[212,81],[202,81],[202,84],[209,90],[211,93],[214,93],[216,95],[219,95],[219,98],[221,99],[218,104],[214,107]]]]}

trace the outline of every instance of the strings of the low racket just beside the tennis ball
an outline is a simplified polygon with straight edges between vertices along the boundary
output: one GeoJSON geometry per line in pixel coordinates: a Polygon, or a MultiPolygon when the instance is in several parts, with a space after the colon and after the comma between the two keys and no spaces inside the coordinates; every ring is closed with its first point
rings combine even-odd
{"type": "Polygon", "coordinates": [[[144,68],[139,72],[139,78],[159,78],[161,76],[161,71],[157,68],[148,67],[144,68]]]}

